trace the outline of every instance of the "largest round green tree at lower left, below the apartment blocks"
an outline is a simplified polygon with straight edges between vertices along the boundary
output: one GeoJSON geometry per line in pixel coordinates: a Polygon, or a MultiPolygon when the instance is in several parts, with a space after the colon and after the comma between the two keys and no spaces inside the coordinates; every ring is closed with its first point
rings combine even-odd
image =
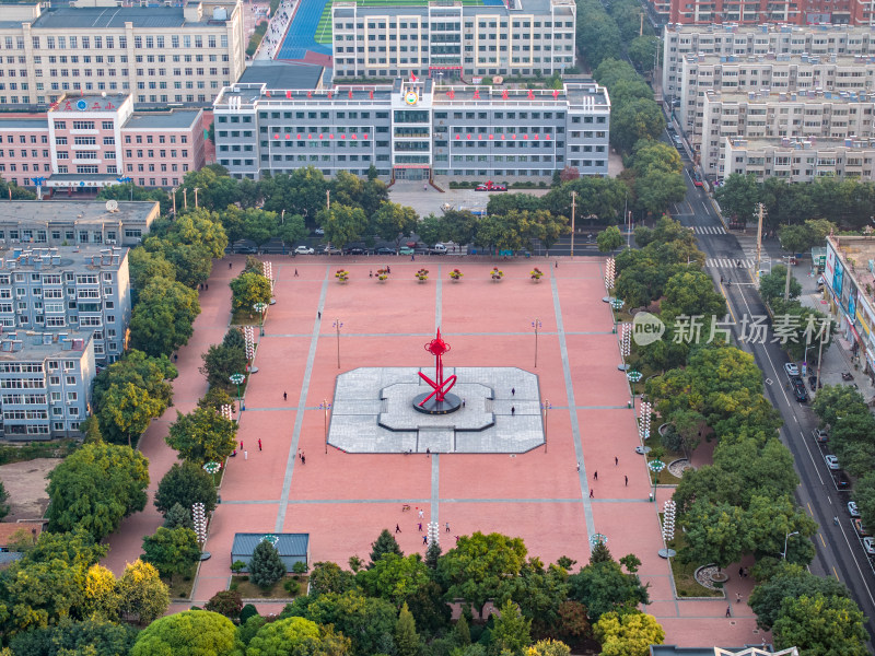
{"type": "Polygon", "coordinates": [[[46,517],[52,531],[81,526],[95,540],[145,507],[149,460],[128,446],[85,444],[48,475],[46,517]]]}

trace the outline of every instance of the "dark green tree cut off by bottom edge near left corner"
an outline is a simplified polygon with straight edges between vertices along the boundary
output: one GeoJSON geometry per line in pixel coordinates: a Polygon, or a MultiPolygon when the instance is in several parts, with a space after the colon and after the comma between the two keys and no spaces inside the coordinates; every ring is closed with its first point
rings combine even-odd
{"type": "Polygon", "coordinates": [[[136,639],[137,630],[128,624],[63,618],[51,626],[13,637],[10,641],[10,656],[118,656],[127,654],[136,639]]]}

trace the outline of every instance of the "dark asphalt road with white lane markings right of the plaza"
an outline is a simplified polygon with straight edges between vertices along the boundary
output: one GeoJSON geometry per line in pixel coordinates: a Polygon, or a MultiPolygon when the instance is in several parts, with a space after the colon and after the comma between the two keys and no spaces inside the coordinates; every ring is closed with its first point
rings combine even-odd
{"type": "MultiPolygon", "coordinates": [[[[689,175],[685,175],[685,178],[687,196],[673,208],[672,214],[682,225],[693,230],[699,248],[705,254],[707,271],[726,296],[731,318],[736,326],[734,333],[738,339],[740,331],[737,328],[743,316],[767,314],[752,281],[755,239],[743,238],[743,244],[735,235],[727,234],[708,195],[692,185],[689,175]]],[[[768,272],[769,260],[781,257],[780,245],[773,239],[768,241],[763,256],[766,265],[761,270],[768,272]]],[[[766,397],[781,412],[784,420],[781,441],[793,453],[800,476],[796,500],[820,527],[814,537],[817,554],[810,571],[819,576],[835,576],[850,588],[868,618],[865,626],[872,636],[875,632],[875,570],[852,528],[845,507],[849,494],[836,489],[824,462],[824,452],[812,437],[812,430],[817,426],[817,417],[808,405],[796,402],[792,391],[785,386],[783,366],[788,356],[780,344],[771,342],[771,337],[770,333],[766,343],[755,341],[739,345],[752,353],[763,372],[766,397]],[[840,519],[838,526],[833,524],[833,517],[837,516],[840,519]]],[[[833,344],[832,348],[839,347],[833,344]]],[[[871,641],[868,648],[872,652],[871,641]]]]}

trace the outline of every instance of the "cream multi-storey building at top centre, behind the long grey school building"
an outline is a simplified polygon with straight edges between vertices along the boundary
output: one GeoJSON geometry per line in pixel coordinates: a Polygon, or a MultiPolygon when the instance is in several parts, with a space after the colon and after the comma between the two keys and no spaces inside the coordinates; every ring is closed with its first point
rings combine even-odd
{"type": "Polygon", "coordinates": [[[335,2],[335,78],[550,75],[574,66],[573,0],[335,2]]]}

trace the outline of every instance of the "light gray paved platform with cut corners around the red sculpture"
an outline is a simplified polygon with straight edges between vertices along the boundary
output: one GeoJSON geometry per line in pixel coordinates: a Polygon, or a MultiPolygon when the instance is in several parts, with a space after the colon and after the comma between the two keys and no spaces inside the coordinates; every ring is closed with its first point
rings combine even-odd
{"type": "Polygon", "coordinates": [[[361,367],[337,377],[328,444],[351,454],[521,454],[544,444],[536,374],[517,367],[444,367],[465,403],[450,414],[412,406],[432,367],[361,367]],[[513,390],[513,394],[512,394],[513,390]]]}

